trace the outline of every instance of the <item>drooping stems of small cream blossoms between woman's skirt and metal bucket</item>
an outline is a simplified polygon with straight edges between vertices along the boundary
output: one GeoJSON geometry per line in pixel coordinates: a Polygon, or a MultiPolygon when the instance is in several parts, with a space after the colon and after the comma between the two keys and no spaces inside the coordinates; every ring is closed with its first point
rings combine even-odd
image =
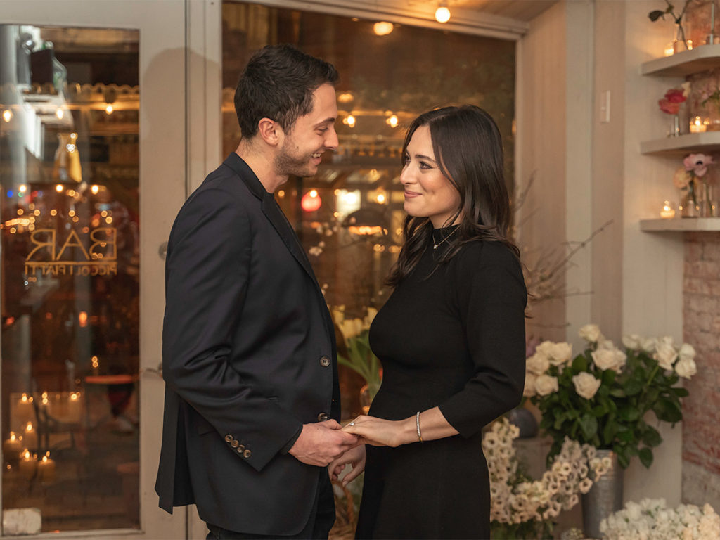
{"type": "MultiPolygon", "coordinates": [[[[518,472],[513,440],[519,429],[506,418],[492,424],[482,438],[482,450],[490,472],[490,521],[505,538],[510,529],[539,532],[549,526],[562,510],[570,510],[587,493],[593,481],[612,467],[609,458],[600,459],[589,444],[580,445],[566,438],[552,467],[540,480],[518,472]]],[[[516,536],[521,538],[523,536],[516,536]]]]}

